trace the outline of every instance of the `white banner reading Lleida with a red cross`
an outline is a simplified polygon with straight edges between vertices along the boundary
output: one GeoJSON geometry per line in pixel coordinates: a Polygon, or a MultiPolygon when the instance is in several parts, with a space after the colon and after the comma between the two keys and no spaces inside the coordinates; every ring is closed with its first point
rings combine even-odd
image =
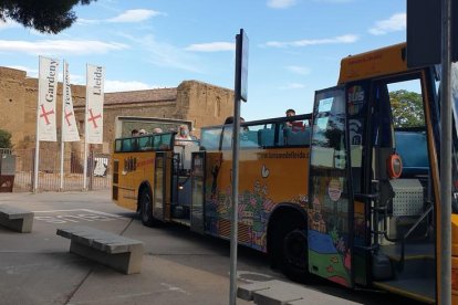
{"type": "Polygon", "coordinates": [[[87,144],[103,143],[104,69],[87,64],[86,74],[86,119],[87,144]]]}

